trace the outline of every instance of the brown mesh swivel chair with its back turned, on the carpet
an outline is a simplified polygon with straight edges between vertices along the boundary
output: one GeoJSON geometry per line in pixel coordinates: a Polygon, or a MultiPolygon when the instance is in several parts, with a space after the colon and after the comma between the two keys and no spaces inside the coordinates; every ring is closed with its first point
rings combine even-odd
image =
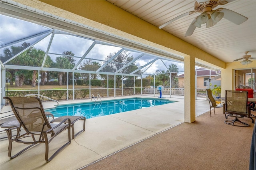
{"type": "MultiPolygon", "coordinates": [[[[252,117],[250,116],[251,110],[250,107],[247,105],[247,101],[248,91],[226,90],[225,104],[223,105],[223,113],[228,113],[229,117],[235,117],[235,119],[232,121],[226,120],[226,124],[240,127],[249,126],[249,124],[244,123],[238,119],[244,117],[252,119],[252,117]]],[[[253,119],[252,123],[254,123],[253,119]]]]}

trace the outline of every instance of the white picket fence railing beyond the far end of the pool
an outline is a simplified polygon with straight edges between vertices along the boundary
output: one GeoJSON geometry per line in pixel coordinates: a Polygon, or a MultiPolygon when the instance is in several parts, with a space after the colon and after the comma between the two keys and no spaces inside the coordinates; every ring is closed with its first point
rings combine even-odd
{"type": "MultiPolygon", "coordinates": [[[[159,93],[159,91],[156,88],[151,88],[151,87],[146,87],[143,89],[143,93],[152,93],[154,94],[159,93]]],[[[170,89],[166,88],[164,90],[162,90],[162,94],[163,95],[170,95],[170,89]]],[[[178,95],[178,96],[184,96],[184,88],[171,88],[171,95],[178,95]]]]}

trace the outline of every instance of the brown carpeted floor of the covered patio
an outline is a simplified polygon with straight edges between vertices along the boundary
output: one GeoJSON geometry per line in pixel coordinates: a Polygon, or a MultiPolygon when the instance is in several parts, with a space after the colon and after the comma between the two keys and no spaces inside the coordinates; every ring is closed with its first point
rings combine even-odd
{"type": "MultiPolygon", "coordinates": [[[[253,112],[255,115],[255,112],[253,112]]],[[[253,126],[226,125],[222,108],[130,146],[85,170],[248,170],[253,126]]],[[[230,117],[229,119],[234,119],[230,117]]]]}

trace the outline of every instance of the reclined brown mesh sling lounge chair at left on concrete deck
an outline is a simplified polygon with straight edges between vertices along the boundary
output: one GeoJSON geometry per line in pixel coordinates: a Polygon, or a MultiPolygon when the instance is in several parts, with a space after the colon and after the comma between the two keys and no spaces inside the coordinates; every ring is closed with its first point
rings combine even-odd
{"type": "Polygon", "coordinates": [[[45,143],[45,160],[50,162],[54,156],[56,156],[63,148],[71,143],[70,137],[70,119],[64,119],[58,124],[49,123],[46,114],[44,112],[42,103],[38,97],[4,97],[10,101],[12,111],[20,123],[18,132],[23,128],[24,134],[17,133],[15,138],[12,138],[10,129],[6,129],[6,133],[9,140],[8,156],[10,159],[15,158],[28,148],[38,144],[45,143]],[[68,121],[68,123],[65,123],[68,121]],[[63,130],[68,129],[68,142],[62,145],[50,158],[49,143],[54,137],[56,137],[63,130]],[[37,136],[37,137],[36,137],[37,136]],[[12,154],[12,142],[18,142],[28,144],[29,146],[11,156],[12,154]]]}

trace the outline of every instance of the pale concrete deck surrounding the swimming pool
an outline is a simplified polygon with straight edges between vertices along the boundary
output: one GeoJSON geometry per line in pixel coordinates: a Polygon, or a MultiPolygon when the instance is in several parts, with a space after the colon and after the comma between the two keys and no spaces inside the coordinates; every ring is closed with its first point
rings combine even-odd
{"type": "MultiPolygon", "coordinates": [[[[122,99],[130,97],[153,97],[150,95],[136,95],[127,97],[109,97],[104,100],[122,99]]],[[[157,98],[157,97],[154,97],[157,98]]],[[[122,148],[130,146],[140,140],[144,140],[163,130],[184,122],[184,99],[166,99],[178,101],[166,105],[138,109],[113,115],[86,119],[86,130],[71,140],[71,144],[64,148],[51,162],[44,160],[45,146],[38,144],[23,152],[20,156],[10,160],[8,157],[8,140],[0,141],[0,169],[79,169],[96,160],[104,158],[122,148]]],[[[61,101],[62,104],[91,102],[90,99],[76,101],[61,101]]],[[[54,102],[44,102],[44,108],[54,105],[54,102]]],[[[209,111],[209,103],[206,100],[196,100],[196,116],[209,111]]],[[[1,113],[9,111],[10,106],[5,106],[1,113]]],[[[75,130],[82,127],[82,121],[75,123],[75,130]]],[[[2,129],[1,129],[2,130],[2,129]]],[[[2,136],[3,134],[1,134],[2,136]]],[[[52,142],[50,149],[61,146],[67,138],[67,130],[59,134],[52,142]],[[63,140],[62,140],[63,139],[63,140]]],[[[20,149],[21,145],[13,144],[13,153],[20,149]]],[[[50,153],[51,154],[51,153],[50,153]]]]}

